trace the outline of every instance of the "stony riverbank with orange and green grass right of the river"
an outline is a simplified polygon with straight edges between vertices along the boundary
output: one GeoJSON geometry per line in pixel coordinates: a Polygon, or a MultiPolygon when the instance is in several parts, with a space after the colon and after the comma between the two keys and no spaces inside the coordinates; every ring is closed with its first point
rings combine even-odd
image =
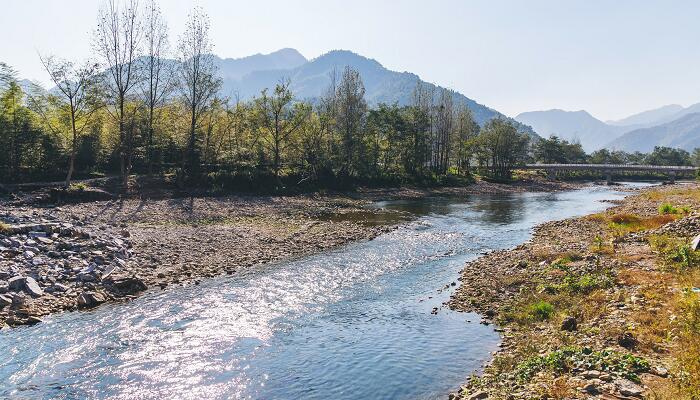
{"type": "Polygon", "coordinates": [[[697,210],[698,184],[645,189],[466,265],[449,306],[503,341],[450,398],[696,398],[697,210]]]}

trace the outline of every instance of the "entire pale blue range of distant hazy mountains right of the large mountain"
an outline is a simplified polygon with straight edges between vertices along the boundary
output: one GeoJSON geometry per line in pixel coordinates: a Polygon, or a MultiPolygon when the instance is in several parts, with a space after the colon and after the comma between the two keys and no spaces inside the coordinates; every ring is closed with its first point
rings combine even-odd
{"type": "Polygon", "coordinates": [[[547,110],[519,114],[515,119],[530,125],[543,137],[557,135],[578,141],[587,152],[608,148],[649,152],[654,146],[692,151],[700,147],[700,103],[677,104],[644,111],[617,121],[603,122],[586,111],[547,110]]]}

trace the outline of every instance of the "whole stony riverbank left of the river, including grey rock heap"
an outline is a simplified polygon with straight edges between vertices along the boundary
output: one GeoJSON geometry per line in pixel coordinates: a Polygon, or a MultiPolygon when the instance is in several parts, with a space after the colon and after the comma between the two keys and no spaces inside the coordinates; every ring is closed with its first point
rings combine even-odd
{"type": "Polygon", "coordinates": [[[0,326],[40,322],[147,288],[197,284],[392,229],[327,218],[373,212],[363,204],[298,196],[2,206],[0,326]]]}

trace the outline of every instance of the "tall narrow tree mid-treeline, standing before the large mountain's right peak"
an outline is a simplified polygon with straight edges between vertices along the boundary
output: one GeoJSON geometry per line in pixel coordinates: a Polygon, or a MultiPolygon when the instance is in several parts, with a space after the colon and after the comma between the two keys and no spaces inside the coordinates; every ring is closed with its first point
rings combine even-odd
{"type": "Polygon", "coordinates": [[[336,91],[336,127],[341,137],[342,161],[340,176],[349,177],[355,173],[357,160],[361,159],[358,146],[362,142],[367,113],[365,86],[360,73],[345,67],[336,91]]]}

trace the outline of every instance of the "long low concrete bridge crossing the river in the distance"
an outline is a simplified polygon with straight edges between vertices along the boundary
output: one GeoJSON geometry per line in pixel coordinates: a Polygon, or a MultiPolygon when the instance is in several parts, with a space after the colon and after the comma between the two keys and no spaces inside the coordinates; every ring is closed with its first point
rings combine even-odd
{"type": "Polygon", "coordinates": [[[612,183],[615,172],[654,172],[665,174],[671,183],[676,182],[677,175],[693,175],[698,167],[682,165],[633,165],[633,164],[527,164],[522,169],[546,171],[550,179],[559,172],[583,171],[600,172],[605,175],[608,184],[612,183]]]}

